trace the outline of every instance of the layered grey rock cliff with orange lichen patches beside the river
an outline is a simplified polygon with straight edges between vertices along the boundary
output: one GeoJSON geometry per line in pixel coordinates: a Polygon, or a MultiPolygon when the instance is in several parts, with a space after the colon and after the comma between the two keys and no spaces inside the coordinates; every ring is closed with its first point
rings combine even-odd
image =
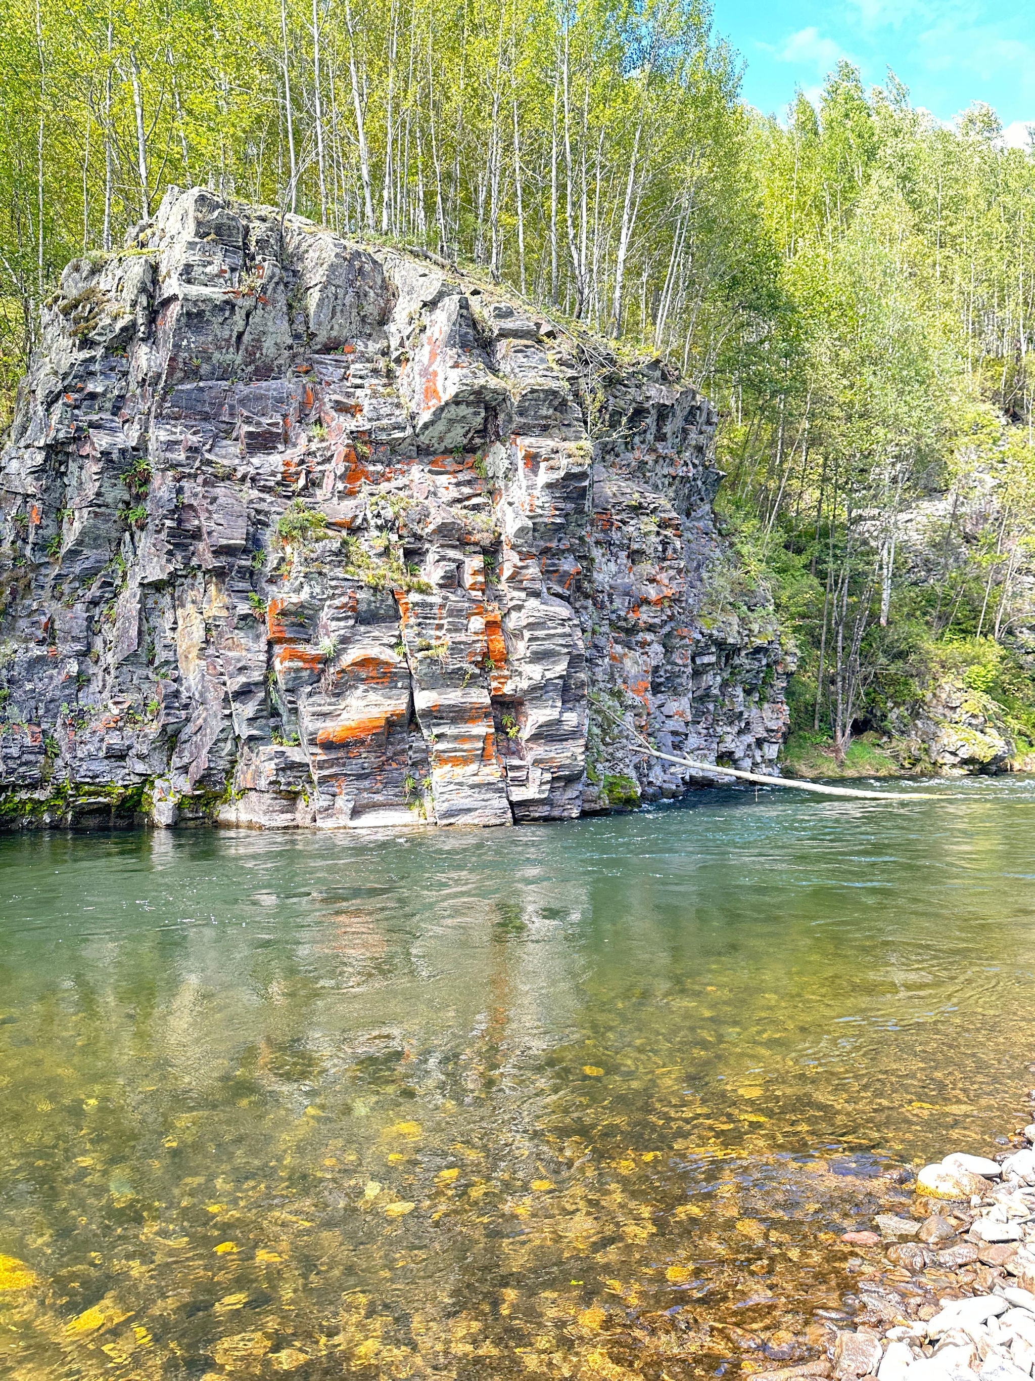
{"type": "Polygon", "coordinates": [[[509,824],[771,769],[713,413],[415,255],[171,189],[76,261],[3,453],[7,824],[509,824]]]}

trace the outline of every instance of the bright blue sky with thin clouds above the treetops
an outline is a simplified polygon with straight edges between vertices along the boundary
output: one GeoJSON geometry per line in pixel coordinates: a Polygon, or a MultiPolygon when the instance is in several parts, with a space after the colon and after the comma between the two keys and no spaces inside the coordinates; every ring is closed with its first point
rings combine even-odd
{"type": "Polygon", "coordinates": [[[867,83],[890,66],[914,105],[949,120],[994,106],[1020,142],[1035,123],[1035,0],[713,0],[715,29],[747,62],[744,97],[782,115],[795,87],[814,95],[838,58],[867,83]]]}

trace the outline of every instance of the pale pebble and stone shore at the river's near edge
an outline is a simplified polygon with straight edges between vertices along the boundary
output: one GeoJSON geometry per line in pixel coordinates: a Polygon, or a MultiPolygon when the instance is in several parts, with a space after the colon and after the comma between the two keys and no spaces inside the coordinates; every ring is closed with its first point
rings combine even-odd
{"type": "MultiPolygon", "coordinates": [[[[1035,1116],[1035,1090],[1031,1092],[1035,1116]]],[[[769,1381],[1024,1381],[1035,1369],[1035,1123],[994,1157],[954,1152],[915,1175],[912,1200],[847,1232],[854,1291],[817,1311],[825,1358],[769,1381]]],[[[811,1330],[810,1330],[811,1331],[811,1330]]],[[[814,1334],[813,1334],[813,1346],[814,1334]]]]}

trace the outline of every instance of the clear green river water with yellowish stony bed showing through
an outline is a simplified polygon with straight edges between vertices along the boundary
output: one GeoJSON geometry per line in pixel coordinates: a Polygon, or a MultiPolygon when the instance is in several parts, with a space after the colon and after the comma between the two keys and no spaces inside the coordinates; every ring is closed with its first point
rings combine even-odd
{"type": "Polygon", "coordinates": [[[1035,780],[936,790],[0,838],[0,1373],[798,1355],[1032,1083],[1035,780]]]}

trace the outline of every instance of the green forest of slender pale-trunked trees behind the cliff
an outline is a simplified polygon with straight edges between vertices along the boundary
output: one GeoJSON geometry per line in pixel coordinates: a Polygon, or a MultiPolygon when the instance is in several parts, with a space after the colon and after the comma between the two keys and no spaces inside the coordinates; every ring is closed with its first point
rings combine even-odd
{"type": "Polygon", "coordinates": [[[1035,747],[1029,151],[846,64],[778,116],[698,4],[0,0],[0,424],[62,267],[168,184],[480,265],[716,403],[798,649],[788,766],[1035,747]]]}

